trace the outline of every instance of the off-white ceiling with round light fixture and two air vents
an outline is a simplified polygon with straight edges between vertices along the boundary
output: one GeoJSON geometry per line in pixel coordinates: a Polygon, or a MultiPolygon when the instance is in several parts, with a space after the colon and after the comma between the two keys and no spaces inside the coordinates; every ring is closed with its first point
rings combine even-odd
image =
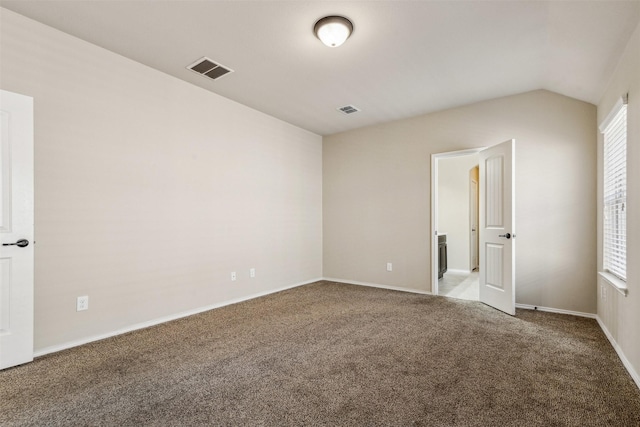
{"type": "Polygon", "coordinates": [[[320,135],[535,89],[595,104],[640,21],[640,0],[0,5],[320,135]],[[312,28],[333,14],[355,30],[332,49],[312,28]],[[202,56],[235,72],[185,68],[202,56]]]}

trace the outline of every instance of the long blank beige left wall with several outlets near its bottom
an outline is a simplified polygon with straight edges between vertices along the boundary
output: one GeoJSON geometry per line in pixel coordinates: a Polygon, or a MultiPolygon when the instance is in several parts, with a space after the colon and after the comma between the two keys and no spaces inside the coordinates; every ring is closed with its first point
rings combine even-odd
{"type": "Polygon", "coordinates": [[[36,351],[322,276],[320,136],[1,15],[0,86],[35,99],[36,351]]]}

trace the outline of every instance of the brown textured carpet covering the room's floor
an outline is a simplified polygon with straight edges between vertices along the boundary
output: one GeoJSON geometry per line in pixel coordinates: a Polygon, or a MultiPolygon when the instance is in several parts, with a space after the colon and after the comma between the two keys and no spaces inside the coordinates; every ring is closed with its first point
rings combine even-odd
{"type": "Polygon", "coordinates": [[[2,426],[630,426],[596,321],[318,282],[0,372],[2,426]]]}

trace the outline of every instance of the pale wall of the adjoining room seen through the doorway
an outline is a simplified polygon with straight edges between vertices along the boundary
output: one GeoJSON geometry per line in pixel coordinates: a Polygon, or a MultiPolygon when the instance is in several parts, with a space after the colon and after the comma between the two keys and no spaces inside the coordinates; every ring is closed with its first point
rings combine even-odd
{"type": "Polygon", "coordinates": [[[469,172],[478,155],[438,160],[438,234],[447,233],[447,269],[469,272],[469,172]]]}

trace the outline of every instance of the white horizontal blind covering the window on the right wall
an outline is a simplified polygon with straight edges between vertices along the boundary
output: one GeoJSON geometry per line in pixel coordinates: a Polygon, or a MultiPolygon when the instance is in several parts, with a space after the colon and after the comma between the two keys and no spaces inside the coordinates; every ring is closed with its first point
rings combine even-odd
{"type": "Polygon", "coordinates": [[[603,268],[627,279],[627,102],[601,126],[604,134],[603,268]]]}

